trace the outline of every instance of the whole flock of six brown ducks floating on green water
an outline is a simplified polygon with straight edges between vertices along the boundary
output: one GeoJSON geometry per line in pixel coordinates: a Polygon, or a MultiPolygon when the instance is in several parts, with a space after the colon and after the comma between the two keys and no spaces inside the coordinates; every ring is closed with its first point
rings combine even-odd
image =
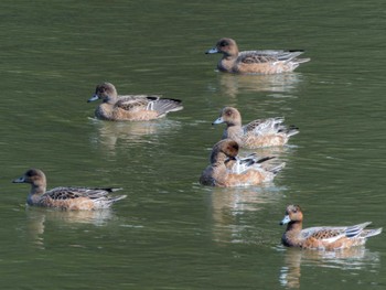
{"type": "MultiPolygon", "coordinates": [[[[219,53],[222,58],[217,68],[235,74],[281,74],[292,72],[310,58],[299,58],[303,51],[245,51],[239,52],[236,41],[221,39],[207,54],[219,53]]],[[[118,95],[110,83],[96,87],[88,101],[101,100],[95,116],[106,121],[148,121],[165,117],[169,112],[183,109],[179,99],[163,98],[158,95],[118,95]]],[[[266,161],[275,157],[258,157],[251,153],[239,155],[240,149],[281,147],[299,133],[294,126],[286,126],[283,118],[253,120],[242,122],[237,108],[225,107],[213,125],[225,123],[221,140],[213,146],[210,164],[202,172],[200,183],[207,186],[249,186],[270,182],[285,168],[286,163],[275,167],[266,161]]],[[[26,203],[31,206],[55,207],[68,211],[90,211],[108,208],[126,195],[111,195],[121,189],[115,187],[55,187],[46,191],[46,176],[39,169],[30,169],[14,183],[29,183],[31,190],[26,203]]],[[[364,245],[368,237],[380,234],[382,228],[366,229],[369,222],[353,226],[320,226],[302,228],[303,213],[299,205],[288,205],[280,224],[287,225],[282,244],[288,247],[336,250],[364,245]]]]}

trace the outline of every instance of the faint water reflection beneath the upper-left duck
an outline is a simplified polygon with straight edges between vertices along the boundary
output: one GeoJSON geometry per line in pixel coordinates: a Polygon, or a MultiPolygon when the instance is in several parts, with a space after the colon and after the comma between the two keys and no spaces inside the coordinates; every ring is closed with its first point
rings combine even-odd
{"type": "Polygon", "coordinates": [[[97,136],[92,137],[93,144],[103,144],[104,148],[114,152],[117,143],[124,142],[128,146],[135,143],[149,142],[147,137],[165,133],[178,129],[179,121],[170,119],[153,121],[101,121],[90,118],[93,125],[97,128],[97,136]]]}

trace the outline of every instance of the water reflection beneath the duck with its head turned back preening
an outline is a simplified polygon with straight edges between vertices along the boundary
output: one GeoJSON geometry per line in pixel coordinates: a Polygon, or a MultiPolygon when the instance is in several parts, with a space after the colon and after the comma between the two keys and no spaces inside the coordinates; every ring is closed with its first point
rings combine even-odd
{"type": "Polygon", "coordinates": [[[244,243],[243,233],[249,224],[238,219],[247,212],[260,211],[265,204],[277,202],[281,196],[277,187],[253,186],[213,187],[211,194],[214,240],[244,243]]]}

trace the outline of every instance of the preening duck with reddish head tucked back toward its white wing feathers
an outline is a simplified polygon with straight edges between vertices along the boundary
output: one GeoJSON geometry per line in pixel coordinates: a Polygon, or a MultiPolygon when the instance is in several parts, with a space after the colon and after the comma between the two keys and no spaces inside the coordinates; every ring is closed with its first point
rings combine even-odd
{"type": "Polygon", "coordinates": [[[271,169],[265,169],[261,163],[272,159],[271,157],[239,158],[238,150],[238,143],[230,139],[221,140],[214,144],[210,157],[211,164],[202,172],[200,183],[219,187],[257,185],[272,181],[285,168],[286,163],[281,163],[271,169]]]}

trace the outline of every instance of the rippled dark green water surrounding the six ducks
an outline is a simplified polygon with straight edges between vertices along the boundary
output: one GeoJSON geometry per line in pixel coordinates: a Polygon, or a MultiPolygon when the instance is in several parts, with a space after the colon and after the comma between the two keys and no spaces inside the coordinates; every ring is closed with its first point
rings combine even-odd
{"type": "Polygon", "coordinates": [[[305,226],[385,226],[386,7],[353,1],[9,1],[0,3],[0,277],[3,289],[384,289],[386,238],[345,253],[287,249],[287,204],[305,226]],[[222,36],[242,50],[304,49],[278,76],[215,71],[222,36]],[[149,123],[95,120],[100,82],[163,94],[184,110],[149,123]],[[285,116],[300,133],[272,184],[197,183],[223,127],[285,116]],[[49,187],[121,186],[108,212],[29,208],[49,187]]]}

